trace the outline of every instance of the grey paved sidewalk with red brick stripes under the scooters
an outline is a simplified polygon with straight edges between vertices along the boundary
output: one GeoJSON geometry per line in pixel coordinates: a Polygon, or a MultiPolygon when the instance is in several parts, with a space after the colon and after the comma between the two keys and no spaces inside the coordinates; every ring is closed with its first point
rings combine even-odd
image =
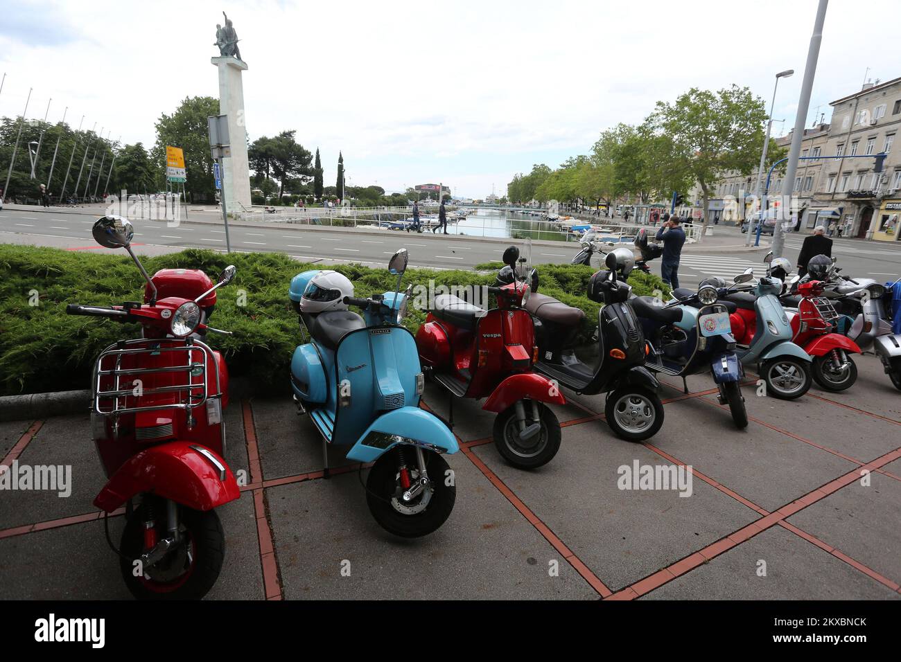
{"type": "MultiPolygon", "coordinates": [[[[746,385],[742,432],[707,380],[665,385],[666,422],[644,444],[614,438],[603,396],[574,396],[555,409],[560,453],[532,472],[500,458],[490,415],[457,402],[457,504],[422,540],[378,527],[340,453],[323,479],[320,440],[287,398],[235,397],[227,459],[250,485],[220,511],[208,599],[899,599],[901,412],[876,359],[860,363],[859,393],[784,403],[746,385]],[[620,489],[636,461],[690,465],[691,495],[620,489]]],[[[424,403],[443,413],[446,398],[430,386],[424,403]]],[[[0,493],[0,597],[128,597],[91,504],[104,478],[88,418],[4,423],[0,463],[16,458],[70,464],[73,487],[0,493]]],[[[110,518],[114,540],[122,523],[110,518]]]]}

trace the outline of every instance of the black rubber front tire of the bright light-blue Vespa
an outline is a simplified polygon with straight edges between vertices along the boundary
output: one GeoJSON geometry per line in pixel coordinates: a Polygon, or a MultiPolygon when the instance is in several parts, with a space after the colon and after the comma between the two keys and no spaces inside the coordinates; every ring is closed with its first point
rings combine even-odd
{"type": "Polygon", "coordinates": [[[398,512],[391,503],[398,488],[396,452],[378,458],[366,479],[366,504],[373,519],[382,529],[400,538],[422,538],[436,531],[451,516],[457,499],[457,485],[449,480],[452,474],[448,463],[438,453],[423,452],[433,492],[422,512],[398,512]]]}

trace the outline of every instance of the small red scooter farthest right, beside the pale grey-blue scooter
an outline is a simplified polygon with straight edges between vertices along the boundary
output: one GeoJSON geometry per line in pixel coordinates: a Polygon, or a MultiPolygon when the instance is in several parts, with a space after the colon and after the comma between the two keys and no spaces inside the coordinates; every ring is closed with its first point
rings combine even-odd
{"type": "Polygon", "coordinates": [[[847,336],[834,332],[839,316],[823,296],[824,286],[819,280],[800,283],[797,313],[790,310],[786,313],[792,342],[814,358],[812,373],[816,383],[827,391],[844,391],[857,380],[857,366],[849,355],[860,354],[860,347],[847,336]]]}

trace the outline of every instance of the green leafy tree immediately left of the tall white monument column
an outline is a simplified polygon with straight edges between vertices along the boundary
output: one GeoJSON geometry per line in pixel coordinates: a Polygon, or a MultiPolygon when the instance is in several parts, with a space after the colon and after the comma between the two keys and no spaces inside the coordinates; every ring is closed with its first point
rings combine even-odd
{"type": "Polygon", "coordinates": [[[210,156],[206,118],[218,114],[217,99],[212,96],[191,96],[178,105],[175,113],[159,116],[157,141],[150,156],[160,187],[165,181],[166,146],[180,147],[185,153],[187,194],[193,201],[214,200],[213,157],[210,156]]]}

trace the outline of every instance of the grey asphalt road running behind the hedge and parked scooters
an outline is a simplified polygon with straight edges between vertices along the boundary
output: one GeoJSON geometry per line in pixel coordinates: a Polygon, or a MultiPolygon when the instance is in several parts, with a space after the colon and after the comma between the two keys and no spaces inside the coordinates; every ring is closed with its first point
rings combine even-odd
{"type": "MultiPolygon", "coordinates": [[[[67,249],[94,249],[91,226],[96,213],[65,213],[18,210],[6,208],[0,212],[0,241],[34,243],[67,249]]],[[[201,217],[209,218],[208,215],[201,217]]],[[[136,221],[134,245],[177,248],[207,248],[223,250],[225,231],[214,223],[182,222],[169,226],[165,222],[136,221]]],[[[744,235],[737,228],[716,226],[717,237],[728,237],[730,244],[742,244],[744,235]]],[[[408,234],[402,231],[371,231],[367,234],[339,231],[311,230],[300,226],[284,227],[230,226],[233,250],[283,252],[304,261],[323,263],[360,262],[369,266],[383,266],[396,249],[406,248],[410,264],[415,267],[472,268],[481,262],[500,259],[503,244],[494,241],[461,239],[454,235],[408,234]]],[[[803,236],[788,235],[786,257],[793,264],[803,236]]],[[[843,272],[849,276],[866,276],[878,280],[901,276],[901,243],[862,240],[833,240],[833,255],[839,258],[843,272]]],[[[536,265],[567,264],[578,252],[575,242],[560,246],[535,245],[532,263],[536,265]]],[[[694,286],[709,276],[731,278],[745,268],[760,273],[762,252],[706,253],[702,247],[692,247],[683,253],[679,268],[682,286],[694,286]]],[[[655,260],[654,273],[660,274],[660,262],[655,260]]]]}

